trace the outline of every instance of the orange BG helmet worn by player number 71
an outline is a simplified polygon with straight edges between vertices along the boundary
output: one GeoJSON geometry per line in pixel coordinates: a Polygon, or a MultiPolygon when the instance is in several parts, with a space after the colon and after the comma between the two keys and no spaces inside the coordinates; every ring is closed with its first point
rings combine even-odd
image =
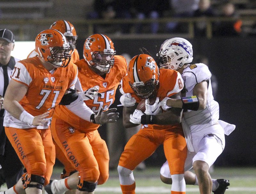
{"type": "Polygon", "coordinates": [[[70,61],[69,44],[57,30],[44,30],[36,37],[36,52],[44,61],[56,67],[66,67],[70,61]]]}

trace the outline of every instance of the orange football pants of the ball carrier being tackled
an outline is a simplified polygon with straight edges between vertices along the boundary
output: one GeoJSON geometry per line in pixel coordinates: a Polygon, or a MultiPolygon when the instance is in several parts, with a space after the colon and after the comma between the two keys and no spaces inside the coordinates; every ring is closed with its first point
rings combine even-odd
{"type": "Polygon", "coordinates": [[[164,144],[164,155],[168,160],[171,174],[184,174],[187,145],[182,129],[155,130],[144,128],[132,136],[124,147],[119,166],[134,170],[164,144]]]}

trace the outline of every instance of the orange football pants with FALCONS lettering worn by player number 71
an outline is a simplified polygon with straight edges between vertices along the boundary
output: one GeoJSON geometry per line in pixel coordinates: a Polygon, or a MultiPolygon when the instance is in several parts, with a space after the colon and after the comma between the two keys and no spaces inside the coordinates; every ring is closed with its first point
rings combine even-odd
{"type": "Polygon", "coordinates": [[[49,184],[55,163],[55,146],[50,128],[5,127],[5,134],[27,173],[42,176],[45,178],[44,185],[49,184]]]}

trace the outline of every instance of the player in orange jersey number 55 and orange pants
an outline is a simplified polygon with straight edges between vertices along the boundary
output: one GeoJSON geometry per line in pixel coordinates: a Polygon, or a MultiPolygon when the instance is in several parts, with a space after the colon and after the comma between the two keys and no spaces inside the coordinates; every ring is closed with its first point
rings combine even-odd
{"type": "MultiPolygon", "coordinates": [[[[121,79],[126,75],[126,59],[115,54],[114,44],[108,36],[93,34],[84,42],[84,59],[75,63],[79,71],[77,90],[99,86],[101,95],[86,101],[95,113],[100,109],[108,110],[115,100],[121,79]]],[[[99,126],[79,118],[65,106],[55,108],[52,136],[79,173],[59,181],[53,180],[45,186],[46,193],[63,193],[75,188],[78,189],[76,193],[94,193],[97,184],[108,180],[108,148],[99,135],[99,126]]]]}

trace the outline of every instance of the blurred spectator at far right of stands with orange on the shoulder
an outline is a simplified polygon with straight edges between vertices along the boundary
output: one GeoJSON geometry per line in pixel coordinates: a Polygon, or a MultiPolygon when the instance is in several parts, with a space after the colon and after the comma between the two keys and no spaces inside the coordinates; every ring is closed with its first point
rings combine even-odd
{"type": "Polygon", "coordinates": [[[232,3],[225,3],[221,7],[221,14],[225,18],[235,18],[235,21],[222,21],[219,22],[214,30],[215,36],[237,36],[242,32],[242,21],[236,12],[235,5],[232,3]]]}

